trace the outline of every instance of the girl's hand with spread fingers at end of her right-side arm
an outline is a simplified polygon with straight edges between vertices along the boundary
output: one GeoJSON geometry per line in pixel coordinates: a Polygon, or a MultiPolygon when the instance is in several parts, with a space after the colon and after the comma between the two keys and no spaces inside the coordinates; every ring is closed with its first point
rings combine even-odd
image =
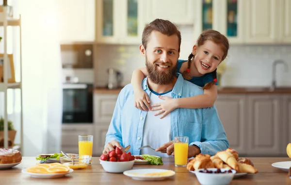
{"type": "Polygon", "coordinates": [[[166,96],[159,96],[160,99],[164,100],[163,102],[161,103],[157,103],[157,104],[154,104],[152,105],[152,107],[155,107],[155,108],[152,108],[151,111],[158,111],[155,116],[158,116],[160,114],[162,114],[162,118],[164,118],[165,116],[167,116],[170,112],[172,112],[174,109],[176,109],[178,106],[177,106],[177,100],[176,99],[173,99],[171,97],[166,97],[166,96]]]}

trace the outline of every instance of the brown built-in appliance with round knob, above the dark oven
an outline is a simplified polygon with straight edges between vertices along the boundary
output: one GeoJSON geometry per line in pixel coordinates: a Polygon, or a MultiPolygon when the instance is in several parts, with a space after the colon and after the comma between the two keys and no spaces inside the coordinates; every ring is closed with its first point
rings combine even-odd
{"type": "Polygon", "coordinates": [[[63,68],[93,68],[92,44],[62,44],[63,68]]]}

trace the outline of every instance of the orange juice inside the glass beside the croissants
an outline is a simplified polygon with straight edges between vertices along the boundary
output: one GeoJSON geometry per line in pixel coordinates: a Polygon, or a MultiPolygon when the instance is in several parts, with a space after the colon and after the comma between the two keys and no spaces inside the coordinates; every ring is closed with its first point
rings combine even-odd
{"type": "Polygon", "coordinates": [[[188,162],[188,143],[174,143],[175,165],[186,166],[188,162]]]}

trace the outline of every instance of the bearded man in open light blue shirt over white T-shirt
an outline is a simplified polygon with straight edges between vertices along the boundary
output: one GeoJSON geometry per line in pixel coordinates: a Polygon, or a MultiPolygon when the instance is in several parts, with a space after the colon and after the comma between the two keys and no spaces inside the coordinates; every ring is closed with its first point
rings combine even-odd
{"type": "MultiPolygon", "coordinates": [[[[156,19],[144,29],[140,52],[146,57],[148,76],[142,87],[153,104],[163,101],[159,95],[185,98],[203,94],[197,85],[175,74],[180,44],[181,34],[168,20],[156,19]]],[[[214,155],[229,146],[215,106],[178,108],[160,119],[154,116],[153,111],[141,111],[133,104],[133,87],[128,84],[119,93],[103,153],[113,150],[114,146],[122,148],[130,145],[129,151],[133,155],[146,153],[167,157],[174,155],[175,136],[189,137],[188,158],[199,153],[214,155]],[[156,151],[139,150],[145,145],[152,146],[156,151]]]]}

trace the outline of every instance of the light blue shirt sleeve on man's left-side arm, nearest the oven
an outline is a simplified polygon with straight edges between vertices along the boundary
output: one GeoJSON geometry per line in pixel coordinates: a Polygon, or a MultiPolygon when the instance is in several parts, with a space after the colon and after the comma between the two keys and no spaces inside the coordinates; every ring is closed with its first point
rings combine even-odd
{"type": "Polygon", "coordinates": [[[116,140],[119,142],[119,144],[122,146],[122,132],[121,132],[121,105],[123,105],[123,90],[118,95],[115,108],[113,111],[113,117],[111,119],[107,134],[106,134],[106,140],[105,145],[113,140],[116,140]]]}

